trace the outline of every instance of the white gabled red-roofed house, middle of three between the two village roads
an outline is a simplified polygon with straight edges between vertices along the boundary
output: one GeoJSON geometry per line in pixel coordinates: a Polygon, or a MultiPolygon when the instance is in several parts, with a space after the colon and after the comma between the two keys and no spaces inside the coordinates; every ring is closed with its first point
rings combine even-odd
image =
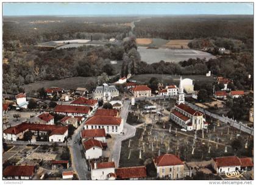
{"type": "Polygon", "coordinates": [[[90,138],[87,141],[84,141],[83,145],[86,159],[98,159],[102,156],[103,147],[101,141],[90,138]]]}

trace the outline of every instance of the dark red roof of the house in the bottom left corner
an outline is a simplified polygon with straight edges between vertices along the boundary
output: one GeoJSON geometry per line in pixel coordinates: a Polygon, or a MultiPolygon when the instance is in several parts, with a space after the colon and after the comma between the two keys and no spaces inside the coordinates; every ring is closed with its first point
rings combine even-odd
{"type": "Polygon", "coordinates": [[[2,172],[3,176],[33,176],[35,166],[7,166],[2,172]]]}

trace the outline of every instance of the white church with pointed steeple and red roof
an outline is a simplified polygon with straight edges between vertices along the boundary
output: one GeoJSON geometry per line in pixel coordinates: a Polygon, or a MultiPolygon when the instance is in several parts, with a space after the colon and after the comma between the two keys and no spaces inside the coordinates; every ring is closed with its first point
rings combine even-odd
{"type": "Polygon", "coordinates": [[[208,127],[208,123],[205,122],[204,114],[200,111],[194,110],[188,105],[185,105],[185,94],[182,87],[182,77],[180,77],[180,84],[177,95],[178,99],[174,109],[171,111],[170,119],[188,131],[206,129],[208,127]]]}

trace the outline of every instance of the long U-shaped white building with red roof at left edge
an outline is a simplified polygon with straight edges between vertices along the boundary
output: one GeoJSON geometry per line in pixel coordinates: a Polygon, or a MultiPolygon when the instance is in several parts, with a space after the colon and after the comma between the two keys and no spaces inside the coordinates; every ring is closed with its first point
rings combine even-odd
{"type": "Polygon", "coordinates": [[[32,131],[35,135],[46,135],[49,133],[50,142],[63,142],[68,137],[68,127],[57,125],[27,124],[22,123],[15,127],[7,128],[3,131],[3,138],[7,141],[17,141],[23,139],[26,131],[32,131]]]}

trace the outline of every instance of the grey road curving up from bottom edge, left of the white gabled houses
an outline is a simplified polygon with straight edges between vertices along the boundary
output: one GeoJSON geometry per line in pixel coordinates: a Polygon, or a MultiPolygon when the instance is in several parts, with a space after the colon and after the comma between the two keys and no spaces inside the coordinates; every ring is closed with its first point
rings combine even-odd
{"type": "MultiPolygon", "coordinates": [[[[86,119],[85,119],[86,120],[86,119]]],[[[78,175],[79,180],[88,180],[90,172],[88,171],[87,162],[84,155],[84,148],[80,142],[80,131],[83,129],[84,122],[74,131],[71,141],[68,142],[71,153],[72,166],[78,175]],[[77,142],[74,144],[74,142],[77,142]]]]}

